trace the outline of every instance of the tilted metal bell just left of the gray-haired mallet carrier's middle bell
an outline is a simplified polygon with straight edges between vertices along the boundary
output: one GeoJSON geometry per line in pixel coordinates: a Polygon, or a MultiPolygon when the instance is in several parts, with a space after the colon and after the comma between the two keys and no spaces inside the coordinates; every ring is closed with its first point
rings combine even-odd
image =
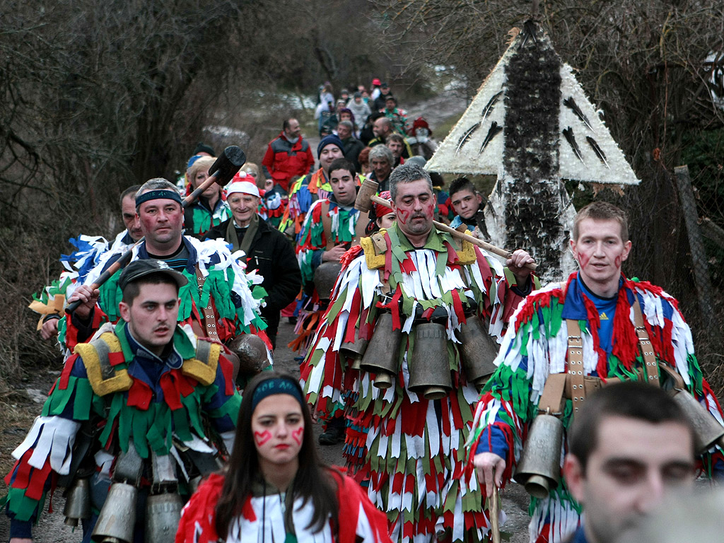
{"type": "Polygon", "coordinates": [[[397,375],[402,339],[403,331],[392,329],[392,313],[382,313],[377,318],[374,334],[360,362],[361,369],[375,374],[375,387],[392,387],[392,381],[397,375]]]}

